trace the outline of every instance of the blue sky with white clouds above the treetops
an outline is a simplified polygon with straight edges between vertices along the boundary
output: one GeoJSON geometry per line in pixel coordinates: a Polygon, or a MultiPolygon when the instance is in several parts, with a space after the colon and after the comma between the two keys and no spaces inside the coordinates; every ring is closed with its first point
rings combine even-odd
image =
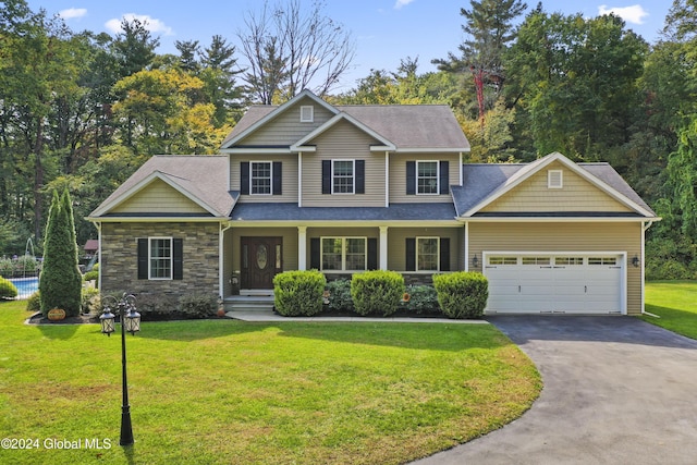
{"type": "MultiPolygon", "coordinates": [[[[216,34],[235,44],[236,33],[244,25],[243,13],[261,5],[260,0],[29,0],[28,3],[35,11],[44,8],[49,14],[60,14],[76,32],[89,29],[113,35],[124,16],[147,20],[152,35],[160,37],[158,53],[175,53],[175,40],[199,40],[208,46],[216,34]]],[[[526,3],[529,11],[537,0],[526,3]]],[[[577,4],[546,0],[542,7],[547,12],[582,13],[587,17],[613,11],[625,20],[627,27],[655,42],[671,3],[671,0],[587,0],[577,4]]],[[[418,57],[419,72],[432,71],[430,61],[456,51],[463,40],[461,8],[468,9],[469,1],[327,0],[325,13],[351,30],[356,44],[354,69],[342,81],[340,90],[353,87],[371,69],[395,71],[406,57],[418,57]]]]}

